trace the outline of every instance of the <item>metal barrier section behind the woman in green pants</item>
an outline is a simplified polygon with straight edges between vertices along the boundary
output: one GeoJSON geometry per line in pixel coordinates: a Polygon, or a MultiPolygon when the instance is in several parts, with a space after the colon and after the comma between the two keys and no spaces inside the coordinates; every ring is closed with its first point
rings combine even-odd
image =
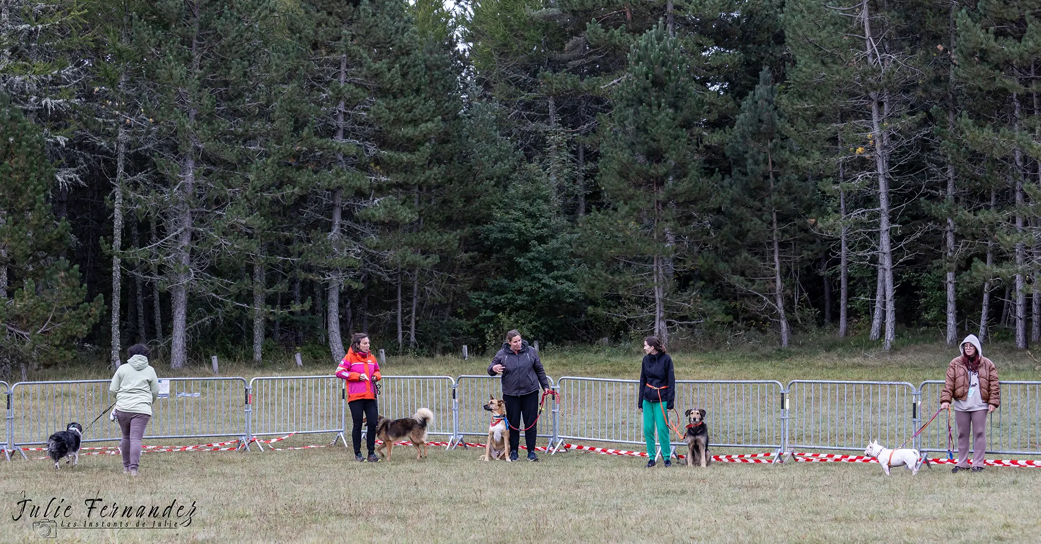
{"type": "MultiPolygon", "coordinates": [[[[638,388],[636,380],[561,377],[560,439],[645,443],[638,388]]],[[[678,429],[686,426],[682,415],[686,409],[701,408],[708,414],[712,445],[784,446],[784,386],[780,382],[678,380],[676,388],[676,413],[668,417],[678,429]]]]}

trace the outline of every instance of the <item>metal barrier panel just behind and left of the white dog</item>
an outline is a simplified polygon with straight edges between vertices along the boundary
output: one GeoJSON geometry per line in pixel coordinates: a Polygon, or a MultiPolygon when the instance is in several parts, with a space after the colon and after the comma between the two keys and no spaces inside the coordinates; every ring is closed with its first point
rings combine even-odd
{"type": "Polygon", "coordinates": [[[907,382],[795,380],[788,384],[790,449],[896,447],[914,435],[917,390],[907,382]]]}

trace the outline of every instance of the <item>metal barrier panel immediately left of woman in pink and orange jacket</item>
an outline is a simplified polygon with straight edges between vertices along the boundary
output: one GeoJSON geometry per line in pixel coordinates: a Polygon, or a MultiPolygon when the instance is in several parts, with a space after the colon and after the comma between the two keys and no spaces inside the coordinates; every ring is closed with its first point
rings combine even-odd
{"type": "Polygon", "coordinates": [[[254,378],[250,391],[250,437],[344,433],[347,401],[335,375],[254,378]]]}

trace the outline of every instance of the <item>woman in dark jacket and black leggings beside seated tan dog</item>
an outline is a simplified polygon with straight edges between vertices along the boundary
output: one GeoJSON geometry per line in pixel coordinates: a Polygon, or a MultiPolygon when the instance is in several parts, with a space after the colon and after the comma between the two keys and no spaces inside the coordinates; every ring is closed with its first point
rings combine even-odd
{"type": "Polygon", "coordinates": [[[538,461],[535,455],[535,439],[538,430],[538,388],[550,388],[550,380],[542,370],[538,352],[520,338],[520,333],[506,333],[503,348],[496,354],[488,365],[488,375],[503,377],[503,400],[506,401],[506,419],[510,424],[510,461],[517,460],[520,433],[524,430],[525,445],[528,446],[528,461],[538,461]],[[522,415],[524,421],[522,421],[522,415]],[[528,425],[525,429],[525,425],[528,425]]]}

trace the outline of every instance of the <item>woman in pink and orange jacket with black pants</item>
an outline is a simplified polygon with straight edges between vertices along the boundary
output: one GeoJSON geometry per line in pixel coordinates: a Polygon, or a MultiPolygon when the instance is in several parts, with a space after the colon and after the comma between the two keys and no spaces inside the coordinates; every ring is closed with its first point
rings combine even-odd
{"type": "Polygon", "coordinates": [[[351,338],[351,347],[336,367],[336,378],[345,380],[347,406],[351,409],[354,429],[351,439],[354,443],[355,461],[365,461],[361,457],[361,417],[365,417],[365,446],[369,461],[376,463],[376,423],[379,418],[376,406],[376,382],[380,381],[380,364],[370,352],[369,335],[356,334],[351,338]]]}

